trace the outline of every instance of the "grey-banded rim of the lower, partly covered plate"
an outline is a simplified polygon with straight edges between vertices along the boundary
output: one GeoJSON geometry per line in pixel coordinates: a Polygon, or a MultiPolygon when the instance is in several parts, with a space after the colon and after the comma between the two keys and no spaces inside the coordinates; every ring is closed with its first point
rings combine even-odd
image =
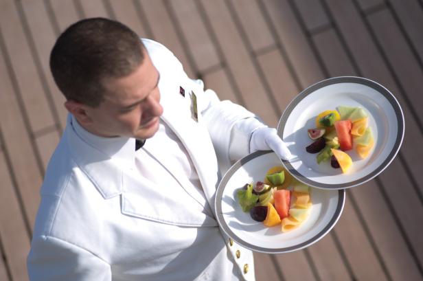
{"type": "Polygon", "coordinates": [[[222,177],[222,180],[219,183],[218,189],[216,190],[216,200],[214,203],[218,224],[220,225],[220,228],[223,230],[223,232],[225,232],[225,234],[227,234],[229,237],[235,240],[236,243],[240,244],[242,247],[251,249],[252,251],[258,251],[265,254],[282,254],[282,253],[288,253],[291,251],[304,249],[305,247],[308,247],[309,245],[312,245],[316,243],[317,241],[319,241],[326,234],[328,234],[328,232],[330,232],[330,229],[332,229],[336,225],[336,222],[341,217],[341,214],[343,212],[343,207],[345,205],[345,196],[346,196],[345,190],[343,189],[338,190],[338,203],[336,205],[334,216],[332,216],[328,225],[323,227],[323,229],[312,238],[304,241],[303,243],[299,243],[297,245],[290,246],[290,247],[269,249],[269,248],[259,247],[259,246],[255,246],[250,243],[247,243],[246,241],[242,240],[240,237],[238,237],[235,233],[231,231],[231,228],[225,222],[225,218],[223,218],[222,195],[223,195],[223,190],[225,189],[231,176],[244,164],[247,164],[247,162],[257,157],[260,157],[262,155],[266,155],[267,153],[273,153],[273,150],[259,150],[259,151],[256,151],[255,153],[251,153],[250,155],[247,155],[246,157],[243,157],[242,159],[238,160],[235,164],[233,164],[233,166],[231,166],[231,168],[229,168],[229,170],[225,173],[225,176],[222,177]]]}

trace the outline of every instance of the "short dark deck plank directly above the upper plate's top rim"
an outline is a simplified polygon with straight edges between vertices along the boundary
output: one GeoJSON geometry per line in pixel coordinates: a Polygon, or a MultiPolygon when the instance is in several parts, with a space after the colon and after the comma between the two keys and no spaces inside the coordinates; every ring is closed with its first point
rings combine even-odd
{"type": "Polygon", "coordinates": [[[330,77],[352,76],[355,74],[345,49],[336,38],[333,29],[315,34],[312,38],[326,69],[329,71],[330,77]]]}

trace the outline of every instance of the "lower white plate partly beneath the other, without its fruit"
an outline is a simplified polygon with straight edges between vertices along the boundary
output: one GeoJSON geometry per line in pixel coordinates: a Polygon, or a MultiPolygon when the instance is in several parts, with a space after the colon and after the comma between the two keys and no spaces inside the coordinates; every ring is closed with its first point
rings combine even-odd
{"type": "Polygon", "coordinates": [[[242,211],[236,192],[245,183],[263,181],[268,169],[280,165],[281,161],[272,151],[253,153],[229,169],[216,192],[219,225],[229,237],[253,251],[277,254],[312,245],[334,227],[343,210],[345,190],[311,188],[310,216],[299,228],[282,232],[281,225],[266,227],[254,221],[249,212],[242,211]]]}

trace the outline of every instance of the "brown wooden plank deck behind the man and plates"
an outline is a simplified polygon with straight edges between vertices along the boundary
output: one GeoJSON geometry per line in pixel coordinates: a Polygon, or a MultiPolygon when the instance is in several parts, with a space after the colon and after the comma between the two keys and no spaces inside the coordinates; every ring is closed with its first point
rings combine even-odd
{"type": "Polygon", "coordinates": [[[291,254],[255,257],[257,280],[423,279],[422,0],[0,0],[0,280],[27,280],[38,190],[65,126],[49,52],[70,23],[117,19],[276,126],[302,89],[363,76],[404,110],[400,153],[347,191],[336,227],[291,254]]]}

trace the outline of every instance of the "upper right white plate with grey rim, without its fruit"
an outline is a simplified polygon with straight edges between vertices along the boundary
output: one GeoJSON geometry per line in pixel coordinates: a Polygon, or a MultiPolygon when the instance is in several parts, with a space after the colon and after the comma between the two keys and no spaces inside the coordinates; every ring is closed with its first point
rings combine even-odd
{"type": "Polygon", "coordinates": [[[396,98],[382,85],[365,78],[336,77],[299,93],[282,114],[277,133],[294,156],[283,164],[295,178],[316,188],[350,188],[373,179],[389,166],[402,144],[404,116],[396,98]],[[374,135],[375,145],[366,159],[358,157],[355,150],[347,152],[353,164],[346,174],[330,163],[317,164],[317,154],[306,152],[312,143],[307,130],[315,128],[316,116],[337,106],[365,109],[374,135]]]}

